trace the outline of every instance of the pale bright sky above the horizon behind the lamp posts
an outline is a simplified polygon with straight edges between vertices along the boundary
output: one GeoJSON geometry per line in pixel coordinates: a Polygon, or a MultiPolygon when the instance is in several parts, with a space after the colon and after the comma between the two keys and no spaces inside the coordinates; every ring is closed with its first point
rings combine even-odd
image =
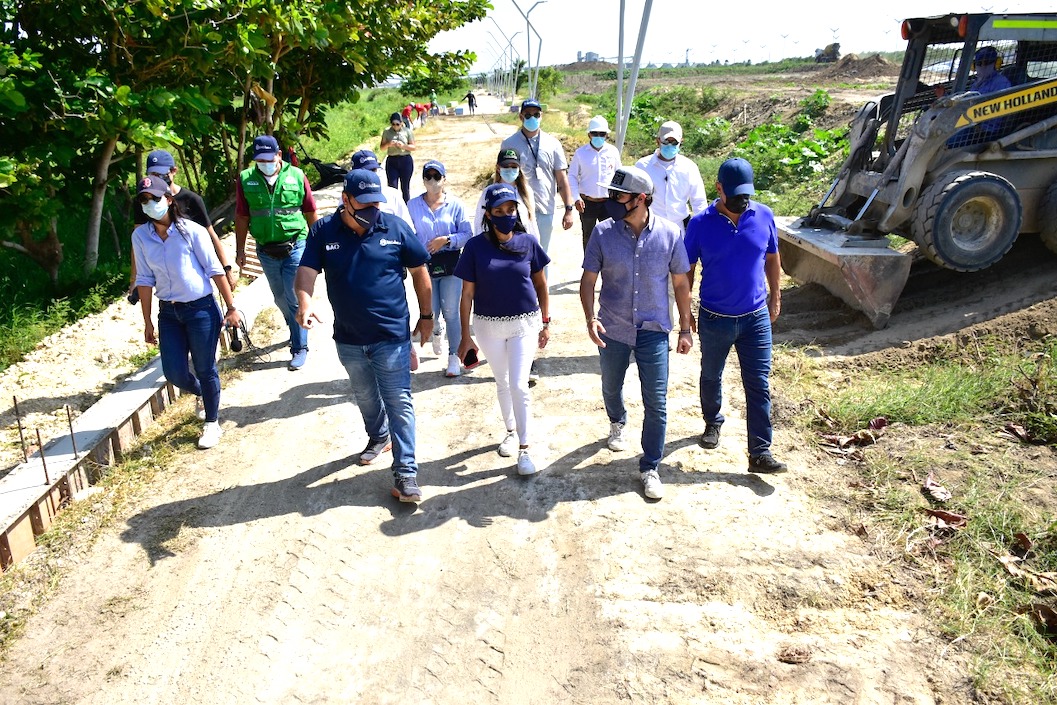
{"type": "MultiPolygon", "coordinates": [[[[535,0],[516,0],[528,12],[535,0]]],[[[478,54],[474,73],[497,62],[499,49],[506,49],[504,34],[515,51],[528,51],[524,18],[515,0],[492,0],[492,19],[446,32],[433,39],[433,51],[471,50],[478,54]],[[497,27],[497,24],[499,26],[497,27]],[[489,34],[490,33],[490,34],[489,34]],[[515,34],[520,33],[520,34],[515,34]]],[[[625,6],[625,55],[635,50],[644,0],[627,0],[625,6]]],[[[893,0],[891,2],[760,2],[746,6],[697,3],[694,0],[653,0],[643,56],[644,63],[680,63],[689,50],[691,62],[750,59],[776,61],[786,56],[811,56],[816,48],[839,41],[842,54],[902,51],[900,24],[907,17],[951,12],[1026,13],[1038,11],[1038,2],[967,2],[893,0]]],[[[528,19],[542,38],[541,51],[532,34],[532,63],[540,52],[540,63],[553,66],[576,60],[576,52],[617,55],[619,0],[546,0],[532,10],[528,19]]]]}

